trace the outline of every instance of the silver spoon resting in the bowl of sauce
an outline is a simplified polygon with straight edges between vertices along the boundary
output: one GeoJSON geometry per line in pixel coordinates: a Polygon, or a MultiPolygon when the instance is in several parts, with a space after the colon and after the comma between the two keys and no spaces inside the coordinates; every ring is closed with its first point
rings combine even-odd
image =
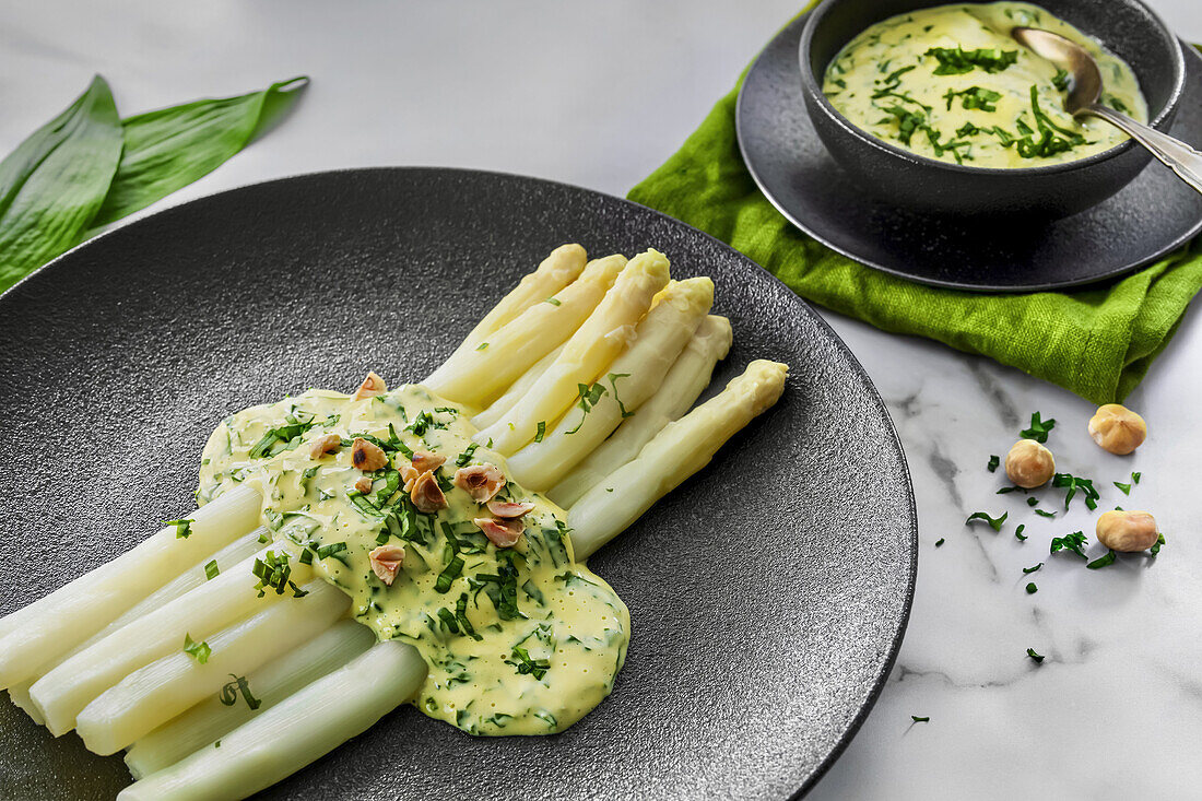
{"type": "Polygon", "coordinates": [[[1019,44],[1042,55],[1072,78],[1069,97],[1064,109],[1073,117],[1093,114],[1101,117],[1111,125],[1121,129],[1132,140],[1148,148],[1165,165],[1176,172],[1182,180],[1202,192],[1202,153],[1198,153],[1180,140],[1161,134],[1154,127],[1137,123],[1126,114],[1120,114],[1108,106],[1097,102],[1102,95],[1102,73],[1097,63],[1083,47],[1059,34],[1040,28],[1014,28],[1010,35],[1019,44]]]}

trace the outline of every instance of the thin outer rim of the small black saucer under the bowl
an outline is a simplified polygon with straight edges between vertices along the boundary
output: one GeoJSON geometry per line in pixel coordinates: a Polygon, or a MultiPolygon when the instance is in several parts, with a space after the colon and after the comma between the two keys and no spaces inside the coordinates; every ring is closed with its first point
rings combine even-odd
{"type": "MultiPolygon", "coordinates": [[[[736,103],[734,103],[734,137],[736,137],[736,140],[738,140],[739,156],[742,156],[742,159],[743,159],[743,165],[746,167],[746,171],[751,174],[751,179],[755,182],[755,185],[760,189],[760,192],[766,198],[768,198],[768,202],[772,203],[773,208],[775,208],[780,213],[781,216],[784,216],[786,220],[789,220],[789,222],[791,225],[793,225],[799,231],[802,231],[802,233],[804,233],[805,236],[815,239],[820,244],[829,248],[831,250],[834,250],[840,256],[846,256],[847,259],[851,259],[852,261],[855,261],[858,265],[863,265],[865,267],[870,267],[873,269],[876,269],[876,271],[882,272],[882,273],[887,273],[887,274],[893,275],[895,278],[900,278],[900,279],[904,279],[904,280],[908,280],[908,281],[911,281],[911,283],[915,283],[915,284],[923,284],[926,286],[938,286],[940,289],[952,289],[952,290],[960,290],[960,291],[964,291],[964,292],[977,292],[977,293],[1023,295],[1023,293],[1028,293],[1028,292],[1047,292],[1047,291],[1054,291],[1054,290],[1061,290],[1061,289],[1072,289],[1072,287],[1078,287],[1078,286],[1094,286],[1094,285],[1108,281],[1111,279],[1119,278],[1119,277],[1126,275],[1129,273],[1133,273],[1135,271],[1137,271],[1137,269],[1139,269],[1142,267],[1147,267],[1152,262],[1156,261],[1158,259],[1164,257],[1165,255],[1172,253],[1173,250],[1177,250],[1178,248],[1180,248],[1182,245],[1184,245],[1186,242],[1189,242],[1190,239],[1192,239],[1195,236],[1197,236],[1198,232],[1202,232],[1202,219],[1198,219],[1197,221],[1195,221],[1194,226],[1189,230],[1188,233],[1184,233],[1184,235],[1177,237],[1176,239],[1173,239],[1172,242],[1162,245],[1161,248],[1156,249],[1155,251],[1149,251],[1146,256],[1141,256],[1139,260],[1133,261],[1133,262],[1131,262],[1129,265],[1124,265],[1121,267],[1115,267],[1114,269],[1112,269],[1109,272],[1100,273],[1097,275],[1093,275],[1090,278],[1083,278],[1083,279],[1078,279],[1078,280],[1052,281],[1052,283],[1042,283],[1042,284],[1023,284],[1023,285],[1014,285],[1014,284],[964,284],[964,283],[959,283],[959,281],[948,281],[948,280],[941,280],[941,279],[938,279],[938,278],[924,278],[924,277],[920,277],[920,275],[914,275],[912,273],[908,273],[908,272],[904,272],[902,269],[897,269],[894,267],[887,267],[885,265],[877,263],[877,262],[875,262],[873,260],[865,259],[862,255],[858,255],[858,254],[853,253],[849,248],[844,248],[844,247],[838,245],[838,244],[835,244],[833,242],[829,242],[822,235],[816,233],[815,231],[813,231],[803,220],[801,220],[797,215],[795,215],[792,212],[790,212],[787,208],[785,208],[784,204],[780,203],[780,201],[778,201],[776,197],[770,191],[768,191],[768,188],[767,188],[763,178],[761,177],[760,171],[756,170],[754,160],[751,158],[749,158],[749,155],[748,155],[746,135],[744,134],[744,123],[743,123],[743,119],[744,119],[743,102],[744,102],[744,97],[745,97],[744,89],[746,89],[748,78],[750,78],[751,75],[760,67],[760,63],[763,61],[768,57],[768,51],[772,48],[772,46],[775,44],[778,40],[783,38],[785,36],[790,36],[792,34],[792,31],[795,30],[795,28],[803,26],[805,24],[805,20],[809,18],[809,16],[810,16],[810,12],[805,11],[805,12],[798,14],[797,17],[795,17],[792,20],[790,20],[789,24],[786,24],[784,28],[781,28],[780,31],[778,31],[776,35],[773,36],[768,41],[768,43],[764,44],[763,49],[761,49],[760,53],[755,57],[755,60],[751,63],[750,69],[748,69],[746,76],[743,78],[743,83],[739,85],[739,95],[738,95],[738,99],[736,100],[736,103]]],[[[1192,59],[1197,59],[1197,61],[1195,63],[1195,66],[1198,66],[1200,64],[1202,64],[1202,53],[1198,53],[1196,49],[1194,49],[1194,47],[1189,42],[1183,41],[1180,37],[1178,37],[1177,41],[1178,41],[1178,44],[1180,46],[1182,54],[1183,54],[1183,57],[1185,58],[1186,61],[1192,58],[1192,59]]],[[[1186,66],[1186,72],[1189,72],[1189,67],[1188,66],[1186,66]]],[[[1186,75],[1186,78],[1188,77],[1189,76],[1186,75]]],[[[798,72],[798,81],[801,81],[801,73],[799,72],[798,72]]],[[[1185,89],[1183,90],[1183,94],[1182,94],[1182,103],[1185,103],[1186,101],[1190,100],[1189,85],[1190,85],[1190,83],[1186,79],[1185,81],[1185,89]]],[[[1150,167],[1152,165],[1149,164],[1148,166],[1150,167]]],[[[1144,170],[1147,170],[1147,168],[1148,167],[1144,167],[1144,170]]],[[[1102,202],[1105,203],[1106,201],[1102,201],[1102,202]]]]}

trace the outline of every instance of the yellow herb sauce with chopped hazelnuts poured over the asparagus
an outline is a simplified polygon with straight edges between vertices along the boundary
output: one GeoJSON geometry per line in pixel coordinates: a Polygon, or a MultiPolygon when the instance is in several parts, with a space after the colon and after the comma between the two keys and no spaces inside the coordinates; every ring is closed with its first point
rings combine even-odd
{"type": "Polygon", "coordinates": [[[426,714],[477,735],[563,731],[613,689],[630,612],[575,560],[564,510],[474,434],[422,386],[310,390],[224,420],[197,502],[260,489],[274,540],[299,546],[377,637],[421,652],[426,714]]]}

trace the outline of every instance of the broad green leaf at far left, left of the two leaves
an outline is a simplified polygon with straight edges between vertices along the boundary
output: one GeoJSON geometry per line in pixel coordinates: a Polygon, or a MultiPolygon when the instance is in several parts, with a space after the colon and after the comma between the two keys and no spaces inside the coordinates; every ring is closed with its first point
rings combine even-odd
{"type": "Polygon", "coordinates": [[[99,75],[0,161],[0,291],[81,242],[121,158],[121,124],[99,75]]]}

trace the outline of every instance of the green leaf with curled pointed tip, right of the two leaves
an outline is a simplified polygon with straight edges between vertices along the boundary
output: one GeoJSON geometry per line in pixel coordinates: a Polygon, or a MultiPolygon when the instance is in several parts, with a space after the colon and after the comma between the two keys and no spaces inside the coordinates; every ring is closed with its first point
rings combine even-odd
{"type": "Polygon", "coordinates": [[[115,222],[216,170],[279,118],[309,78],[123,120],[125,153],[94,226],[115,222]]]}

